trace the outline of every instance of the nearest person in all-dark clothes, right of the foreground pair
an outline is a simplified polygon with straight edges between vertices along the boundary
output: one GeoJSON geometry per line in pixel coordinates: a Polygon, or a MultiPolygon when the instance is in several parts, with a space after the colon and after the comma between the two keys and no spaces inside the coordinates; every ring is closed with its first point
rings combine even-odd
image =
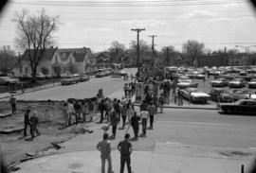
{"type": "Polygon", "coordinates": [[[124,140],[119,142],[118,149],[120,152],[120,173],[123,173],[126,163],[128,173],[132,173],[131,154],[133,152],[132,144],[129,142],[130,134],[124,135],[124,140]]]}

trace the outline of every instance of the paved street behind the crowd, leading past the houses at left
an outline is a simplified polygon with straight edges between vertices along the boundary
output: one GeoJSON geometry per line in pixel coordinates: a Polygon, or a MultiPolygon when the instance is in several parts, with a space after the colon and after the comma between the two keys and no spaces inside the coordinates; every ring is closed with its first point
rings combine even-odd
{"type": "MultiPolygon", "coordinates": [[[[137,69],[126,70],[130,76],[131,73],[136,74],[137,69]]],[[[123,84],[127,80],[123,78],[91,78],[89,81],[79,82],[73,85],[56,86],[46,90],[40,90],[24,95],[18,95],[18,99],[24,100],[65,100],[67,98],[88,98],[96,96],[99,89],[103,89],[103,95],[111,96],[115,93],[122,92],[123,84]]],[[[121,95],[119,95],[121,96],[121,95]]],[[[7,98],[9,99],[9,98],[7,98]]]]}

